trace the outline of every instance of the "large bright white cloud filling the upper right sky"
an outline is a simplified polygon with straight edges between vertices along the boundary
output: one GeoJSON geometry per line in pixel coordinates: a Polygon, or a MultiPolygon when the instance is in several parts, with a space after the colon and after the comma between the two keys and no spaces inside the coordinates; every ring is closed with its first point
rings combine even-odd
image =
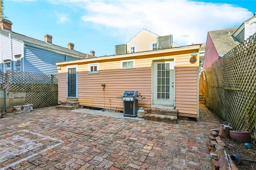
{"type": "Polygon", "coordinates": [[[160,36],[172,34],[173,41],[180,45],[206,42],[208,31],[240,26],[253,16],[247,9],[231,4],[187,0],[72,0],[69,5],[74,4],[84,8],[82,21],[124,38],[124,43],[142,28],[160,36]]]}

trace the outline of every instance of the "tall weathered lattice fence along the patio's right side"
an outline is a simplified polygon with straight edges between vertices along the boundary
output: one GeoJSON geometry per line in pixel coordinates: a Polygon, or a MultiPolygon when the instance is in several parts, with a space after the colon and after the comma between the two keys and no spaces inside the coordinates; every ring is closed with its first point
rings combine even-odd
{"type": "Polygon", "coordinates": [[[256,34],[202,71],[200,84],[207,107],[256,138],[256,34]]]}

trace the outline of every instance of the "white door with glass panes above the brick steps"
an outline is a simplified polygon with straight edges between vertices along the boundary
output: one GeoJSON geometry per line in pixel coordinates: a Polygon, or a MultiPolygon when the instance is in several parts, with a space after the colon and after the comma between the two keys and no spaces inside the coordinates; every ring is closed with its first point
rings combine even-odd
{"type": "Polygon", "coordinates": [[[174,106],[174,61],[153,63],[153,105],[174,106]]]}

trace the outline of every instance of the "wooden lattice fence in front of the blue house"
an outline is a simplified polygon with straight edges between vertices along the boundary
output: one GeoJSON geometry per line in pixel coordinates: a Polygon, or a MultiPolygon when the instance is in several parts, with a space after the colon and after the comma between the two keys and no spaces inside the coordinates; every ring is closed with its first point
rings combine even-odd
{"type": "Polygon", "coordinates": [[[34,108],[52,105],[58,92],[58,76],[23,71],[0,71],[0,88],[6,91],[26,91],[26,103],[34,108]]]}

